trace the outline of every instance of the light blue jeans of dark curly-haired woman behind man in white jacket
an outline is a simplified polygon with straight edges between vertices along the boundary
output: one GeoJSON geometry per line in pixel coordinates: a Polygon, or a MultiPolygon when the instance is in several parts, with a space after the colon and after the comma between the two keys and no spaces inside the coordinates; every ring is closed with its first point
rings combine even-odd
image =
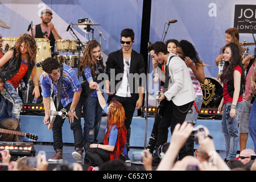
{"type": "MultiPolygon", "coordinates": [[[[196,103],[197,109],[200,111],[201,106],[203,104],[203,96],[196,96],[195,103],[196,103]]],[[[193,105],[191,109],[188,111],[185,121],[196,125],[197,117],[198,117],[198,113],[195,106],[193,105]]]]}

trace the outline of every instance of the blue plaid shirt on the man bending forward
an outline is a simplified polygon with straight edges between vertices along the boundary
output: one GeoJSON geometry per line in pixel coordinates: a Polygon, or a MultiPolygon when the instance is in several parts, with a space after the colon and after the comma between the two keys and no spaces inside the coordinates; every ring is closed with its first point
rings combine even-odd
{"type": "MultiPolygon", "coordinates": [[[[53,93],[57,96],[57,80],[56,85],[54,84],[51,76],[46,72],[43,72],[40,76],[40,84],[42,88],[42,96],[50,97],[51,89],[53,93]]],[[[77,78],[76,72],[73,68],[68,65],[63,65],[63,78],[62,78],[62,89],[60,93],[60,101],[63,107],[67,106],[73,101],[74,93],[81,90],[81,84],[77,78]]]]}

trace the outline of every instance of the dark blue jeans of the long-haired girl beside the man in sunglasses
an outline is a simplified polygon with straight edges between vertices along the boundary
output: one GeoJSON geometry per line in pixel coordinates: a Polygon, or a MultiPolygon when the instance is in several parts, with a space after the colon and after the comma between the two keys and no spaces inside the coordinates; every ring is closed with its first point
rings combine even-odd
{"type": "Polygon", "coordinates": [[[97,143],[98,131],[101,125],[102,108],[98,97],[88,97],[84,100],[84,144],[97,143]]]}

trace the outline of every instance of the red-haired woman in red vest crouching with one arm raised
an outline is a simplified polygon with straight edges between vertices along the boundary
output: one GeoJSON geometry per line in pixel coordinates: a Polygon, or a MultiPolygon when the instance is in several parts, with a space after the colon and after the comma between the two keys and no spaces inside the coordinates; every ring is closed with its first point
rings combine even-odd
{"type": "Polygon", "coordinates": [[[126,128],[125,128],[125,109],[117,102],[110,102],[106,105],[105,98],[101,90],[97,88],[98,101],[104,112],[108,114],[104,144],[92,143],[85,144],[85,156],[89,159],[90,167],[88,170],[97,171],[98,166],[108,160],[120,159],[122,152],[126,154],[126,128]]]}

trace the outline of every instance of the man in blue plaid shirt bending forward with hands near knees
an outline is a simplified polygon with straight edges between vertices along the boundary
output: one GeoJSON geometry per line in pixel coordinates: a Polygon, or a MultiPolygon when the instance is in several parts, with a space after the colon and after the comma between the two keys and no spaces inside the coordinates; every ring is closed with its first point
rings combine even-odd
{"type": "MultiPolygon", "coordinates": [[[[76,72],[68,65],[61,65],[54,57],[48,57],[42,64],[43,73],[40,76],[40,83],[42,87],[43,104],[45,110],[44,125],[50,122],[49,109],[51,105],[51,89],[56,97],[58,97],[58,90],[60,88],[60,101],[55,100],[57,111],[65,109],[68,111],[68,121],[71,124],[71,130],[74,134],[75,152],[72,157],[76,159],[77,163],[82,163],[82,127],[81,114],[82,102],[80,100],[81,84],[77,78],[76,72]],[[63,66],[63,67],[62,67],[63,66]],[[61,82],[61,85],[58,85],[61,82]]],[[[55,155],[49,159],[49,162],[61,162],[63,160],[63,141],[62,141],[62,126],[65,118],[56,115],[52,126],[53,134],[53,148],[55,155]]]]}

